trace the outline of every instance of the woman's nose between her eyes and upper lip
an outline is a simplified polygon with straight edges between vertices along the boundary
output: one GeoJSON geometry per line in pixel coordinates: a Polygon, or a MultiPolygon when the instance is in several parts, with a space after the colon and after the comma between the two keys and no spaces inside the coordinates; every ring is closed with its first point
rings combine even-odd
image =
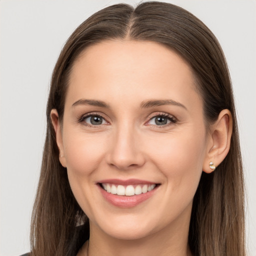
{"type": "Polygon", "coordinates": [[[140,167],[145,162],[142,147],[138,132],[131,125],[123,125],[111,136],[107,163],[120,170],[140,167]]]}

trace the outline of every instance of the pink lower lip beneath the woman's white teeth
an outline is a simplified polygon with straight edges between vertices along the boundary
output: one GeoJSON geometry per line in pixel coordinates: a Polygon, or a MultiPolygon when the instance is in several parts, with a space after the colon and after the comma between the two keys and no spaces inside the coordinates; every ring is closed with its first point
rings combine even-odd
{"type": "Polygon", "coordinates": [[[151,191],[147,191],[146,193],[141,194],[134,194],[131,196],[111,194],[108,193],[105,189],[103,189],[99,184],[98,187],[100,189],[101,194],[108,202],[118,207],[129,208],[134,207],[139,203],[145,201],[149,197],[151,197],[158,188],[158,185],[154,187],[154,189],[152,189],[151,191]]]}

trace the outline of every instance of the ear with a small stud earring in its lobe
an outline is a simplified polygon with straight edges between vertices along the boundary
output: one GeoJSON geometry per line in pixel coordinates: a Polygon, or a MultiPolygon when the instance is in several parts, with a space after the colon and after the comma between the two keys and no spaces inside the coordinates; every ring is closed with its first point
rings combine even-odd
{"type": "Polygon", "coordinates": [[[206,155],[202,169],[206,173],[214,170],[226,157],[230,148],[230,139],[232,133],[232,115],[228,109],[223,109],[216,122],[210,126],[210,134],[206,155]],[[210,162],[212,165],[210,166],[210,162]]]}

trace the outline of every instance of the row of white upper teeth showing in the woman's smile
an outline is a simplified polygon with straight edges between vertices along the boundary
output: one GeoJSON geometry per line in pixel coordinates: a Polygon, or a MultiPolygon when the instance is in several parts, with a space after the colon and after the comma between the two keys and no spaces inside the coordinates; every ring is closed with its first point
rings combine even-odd
{"type": "Polygon", "coordinates": [[[126,195],[132,196],[134,194],[146,193],[147,191],[151,191],[154,189],[156,184],[139,184],[139,185],[127,185],[126,187],[123,185],[114,185],[109,183],[102,183],[102,187],[108,193],[118,194],[118,195],[126,195]]]}

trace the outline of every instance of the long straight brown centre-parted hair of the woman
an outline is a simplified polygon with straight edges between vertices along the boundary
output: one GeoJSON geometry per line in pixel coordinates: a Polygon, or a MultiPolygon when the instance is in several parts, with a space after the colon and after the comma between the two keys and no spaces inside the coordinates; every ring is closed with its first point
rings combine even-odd
{"type": "Polygon", "coordinates": [[[80,24],[54,67],[47,103],[47,131],[31,220],[31,255],[75,255],[89,237],[88,220],[59,163],[50,110],[63,116],[74,60],[88,45],[106,39],[153,41],[176,51],[191,66],[203,99],[206,125],[222,109],[232,114],[230,150],[211,174],[202,173],[194,195],[188,241],[194,255],[243,256],[243,172],[232,87],[225,57],[212,32],[181,7],[163,2],[108,6],[80,24]],[[79,225],[78,223],[85,223],[79,225]]]}

